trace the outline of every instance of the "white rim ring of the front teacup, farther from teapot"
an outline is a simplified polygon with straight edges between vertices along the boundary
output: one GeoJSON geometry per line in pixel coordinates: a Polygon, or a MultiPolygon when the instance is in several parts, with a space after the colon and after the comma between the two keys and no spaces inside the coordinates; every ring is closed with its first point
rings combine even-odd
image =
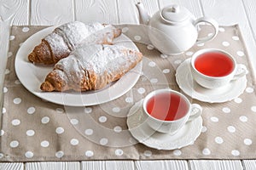
{"type": "Polygon", "coordinates": [[[163,123],[165,123],[165,122],[178,122],[178,121],[182,120],[185,116],[189,115],[189,112],[191,111],[191,105],[192,104],[190,103],[189,99],[184,94],[179,93],[176,90],[173,90],[171,88],[156,89],[156,90],[150,92],[149,94],[147,94],[146,97],[143,99],[143,112],[145,112],[147,114],[147,116],[149,116],[150,118],[152,118],[156,121],[159,121],[159,122],[163,122],[163,123]],[[189,109],[188,109],[187,113],[184,116],[182,116],[182,117],[180,117],[176,120],[172,120],[172,121],[161,120],[161,119],[155,118],[154,116],[151,116],[147,111],[146,101],[147,101],[147,98],[150,99],[153,96],[153,94],[156,93],[156,92],[173,92],[175,94],[178,94],[178,95],[182,96],[183,99],[186,101],[186,103],[189,105],[189,109]]]}

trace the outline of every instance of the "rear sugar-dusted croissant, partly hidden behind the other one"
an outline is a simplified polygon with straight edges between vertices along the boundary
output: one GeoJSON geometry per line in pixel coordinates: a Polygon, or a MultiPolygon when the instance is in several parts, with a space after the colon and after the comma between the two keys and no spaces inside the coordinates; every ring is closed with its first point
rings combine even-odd
{"type": "Polygon", "coordinates": [[[74,21],[61,25],[42,39],[28,60],[36,64],[52,65],[67,57],[81,43],[112,44],[114,37],[119,37],[121,30],[111,25],[94,22],[85,25],[74,21]]]}

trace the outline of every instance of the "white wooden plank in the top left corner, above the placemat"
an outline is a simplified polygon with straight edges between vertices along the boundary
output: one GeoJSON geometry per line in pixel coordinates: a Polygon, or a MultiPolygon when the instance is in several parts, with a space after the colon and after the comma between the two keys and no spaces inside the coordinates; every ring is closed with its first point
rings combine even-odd
{"type": "Polygon", "coordinates": [[[29,0],[0,1],[0,18],[11,20],[11,25],[27,25],[29,22],[29,0]]]}

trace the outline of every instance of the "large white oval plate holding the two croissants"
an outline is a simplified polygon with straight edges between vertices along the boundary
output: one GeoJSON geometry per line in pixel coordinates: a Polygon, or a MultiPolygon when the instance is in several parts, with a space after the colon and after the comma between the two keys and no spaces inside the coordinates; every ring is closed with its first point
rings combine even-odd
{"type": "MultiPolygon", "coordinates": [[[[117,99],[128,92],[137,82],[140,77],[143,62],[140,62],[134,69],[127,72],[119,81],[113,82],[108,87],[96,91],[88,92],[42,92],[40,85],[44,82],[45,77],[52,71],[53,66],[49,65],[33,65],[28,61],[27,56],[32,52],[32,49],[41,42],[41,39],[47,36],[55,27],[48,27],[42,31],[38,31],[29,37],[26,42],[22,43],[15,58],[15,71],[22,85],[32,94],[49,102],[68,105],[68,106],[86,106],[98,105],[113,99],[117,99]]],[[[115,38],[114,44],[123,45],[127,48],[137,49],[137,46],[121,34],[115,38]]]]}

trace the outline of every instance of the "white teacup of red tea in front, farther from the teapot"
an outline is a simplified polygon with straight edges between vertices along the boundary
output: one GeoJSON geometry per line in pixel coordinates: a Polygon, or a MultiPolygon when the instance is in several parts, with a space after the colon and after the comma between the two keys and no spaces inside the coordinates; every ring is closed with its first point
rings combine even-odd
{"type": "Polygon", "coordinates": [[[148,126],[160,133],[174,134],[186,122],[201,116],[202,108],[190,104],[183,94],[172,89],[151,92],[143,100],[143,111],[148,116],[148,126]]]}

